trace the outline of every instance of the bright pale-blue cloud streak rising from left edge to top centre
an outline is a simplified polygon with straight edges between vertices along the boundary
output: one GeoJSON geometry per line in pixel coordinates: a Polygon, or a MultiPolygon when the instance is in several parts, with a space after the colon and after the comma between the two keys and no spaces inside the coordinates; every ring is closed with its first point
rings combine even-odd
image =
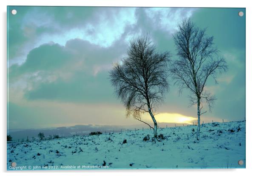
{"type": "MultiPolygon", "coordinates": [[[[81,17],[77,16],[77,18],[81,17]]],[[[29,40],[20,46],[22,52],[18,57],[11,58],[9,66],[14,63],[19,65],[24,63],[30,50],[51,42],[65,46],[67,41],[79,38],[101,47],[110,47],[122,36],[127,25],[134,25],[137,21],[135,8],[105,8],[104,11],[96,14],[96,17],[92,14],[92,18],[87,22],[81,20],[81,25],[69,29],[62,29],[51,15],[36,10],[28,12],[22,22],[24,36],[29,40]],[[38,27],[51,28],[56,32],[36,33],[38,27]]]]}

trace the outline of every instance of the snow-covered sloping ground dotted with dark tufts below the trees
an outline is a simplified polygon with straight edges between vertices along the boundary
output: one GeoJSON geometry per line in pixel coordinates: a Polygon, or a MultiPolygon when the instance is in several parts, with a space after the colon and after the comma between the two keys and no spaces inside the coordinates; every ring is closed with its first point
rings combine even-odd
{"type": "Polygon", "coordinates": [[[196,127],[158,129],[165,139],[156,142],[153,131],[144,129],[8,143],[7,169],[245,168],[245,121],[203,124],[199,142],[196,127]],[[150,140],[143,141],[146,135],[150,140]]]}

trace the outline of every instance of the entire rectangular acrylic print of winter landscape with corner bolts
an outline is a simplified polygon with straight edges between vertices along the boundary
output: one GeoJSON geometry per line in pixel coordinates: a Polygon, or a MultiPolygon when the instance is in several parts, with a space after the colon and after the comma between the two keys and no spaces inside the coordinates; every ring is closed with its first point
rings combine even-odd
{"type": "Polygon", "coordinates": [[[7,14],[7,170],[245,168],[245,8],[7,14]]]}

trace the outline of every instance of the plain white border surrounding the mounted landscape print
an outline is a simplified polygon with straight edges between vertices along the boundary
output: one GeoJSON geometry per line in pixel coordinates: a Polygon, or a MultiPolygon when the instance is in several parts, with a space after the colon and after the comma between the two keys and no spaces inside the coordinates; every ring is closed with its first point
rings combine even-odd
{"type": "Polygon", "coordinates": [[[0,159],[0,171],[3,175],[21,175],[21,176],[31,176],[35,175],[34,172],[7,172],[6,171],[6,6],[7,5],[46,5],[46,6],[169,6],[169,7],[245,7],[246,8],[246,169],[196,169],[196,170],[86,170],[86,171],[47,171],[47,172],[37,172],[38,176],[45,176],[46,174],[54,173],[56,176],[70,176],[78,175],[102,175],[113,176],[120,175],[189,175],[189,176],[216,176],[220,175],[253,175],[254,171],[254,157],[255,155],[255,125],[256,125],[256,113],[255,109],[255,77],[256,77],[256,27],[255,27],[255,16],[256,16],[256,6],[253,1],[245,0],[1,0],[1,42],[0,42],[0,53],[1,53],[1,159],[0,159]],[[159,173],[160,172],[160,173],[159,173]]]}

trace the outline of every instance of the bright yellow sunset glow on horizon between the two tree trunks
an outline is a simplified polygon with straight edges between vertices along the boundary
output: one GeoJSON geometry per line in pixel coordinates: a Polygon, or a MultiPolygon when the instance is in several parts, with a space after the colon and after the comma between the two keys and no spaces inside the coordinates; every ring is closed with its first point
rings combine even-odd
{"type": "Polygon", "coordinates": [[[163,123],[179,123],[179,124],[192,124],[192,121],[197,118],[185,116],[178,113],[159,113],[155,115],[156,121],[163,123]]]}

